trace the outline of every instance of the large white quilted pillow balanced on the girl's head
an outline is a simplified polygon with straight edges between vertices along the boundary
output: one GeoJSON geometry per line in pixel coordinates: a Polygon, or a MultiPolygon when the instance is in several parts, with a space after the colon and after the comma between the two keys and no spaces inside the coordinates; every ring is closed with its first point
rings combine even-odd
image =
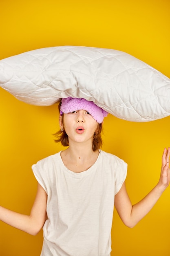
{"type": "Polygon", "coordinates": [[[129,121],[170,115],[170,79],[113,49],[49,47],[5,58],[0,61],[0,86],[38,106],[77,97],[129,121]]]}

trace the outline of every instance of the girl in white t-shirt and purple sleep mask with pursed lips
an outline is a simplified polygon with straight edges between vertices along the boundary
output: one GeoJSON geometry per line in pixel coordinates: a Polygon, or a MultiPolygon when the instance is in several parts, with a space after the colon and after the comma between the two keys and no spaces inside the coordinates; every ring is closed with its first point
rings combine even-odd
{"type": "Polygon", "coordinates": [[[56,141],[68,146],[32,166],[38,191],[29,216],[0,207],[0,220],[36,235],[43,227],[41,256],[109,256],[114,204],[121,220],[134,227],[170,183],[170,148],[161,175],[146,197],[132,205],[126,191],[127,164],[102,151],[107,112],[91,101],[62,99],[56,141]]]}

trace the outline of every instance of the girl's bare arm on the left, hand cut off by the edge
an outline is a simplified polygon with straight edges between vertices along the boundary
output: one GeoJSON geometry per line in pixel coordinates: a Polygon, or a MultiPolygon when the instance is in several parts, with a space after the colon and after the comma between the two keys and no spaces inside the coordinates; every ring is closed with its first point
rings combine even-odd
{"type": "Polygon", "coordinates": [[[0,206],[0,220],[26,233],[36,235],[43,227],[47,218],[46,201],[46,192],[38,184],[37,194],[30,215],[16,213],[0,206]]]}

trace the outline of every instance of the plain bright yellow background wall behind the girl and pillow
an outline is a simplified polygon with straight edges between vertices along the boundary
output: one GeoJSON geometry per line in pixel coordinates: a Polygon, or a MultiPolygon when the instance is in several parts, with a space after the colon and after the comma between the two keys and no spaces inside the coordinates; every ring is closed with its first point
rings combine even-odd
{"type": "MultiPolygon", "coordinates": [[[[81,45],[127,52],[170,77],[169,0],[1,0],[0,59],[42,47],[81,45]]],[[[31,165],[61,150],[56,106],[18,101],[0,88],[0,204],[29,214],[36,181],[31,165]]],[[[170,146],[170,117],[147,123],[109,115],[103,150],[128,163],[132,203],[159,180],[161,155],[170,146]]],[[[117,212],[112,256],[170,255],[170,188],[133,229],[117,212]]],[[[42,232],[30,236],[0,222],[1,256],[39,256],[42,232]]]]}

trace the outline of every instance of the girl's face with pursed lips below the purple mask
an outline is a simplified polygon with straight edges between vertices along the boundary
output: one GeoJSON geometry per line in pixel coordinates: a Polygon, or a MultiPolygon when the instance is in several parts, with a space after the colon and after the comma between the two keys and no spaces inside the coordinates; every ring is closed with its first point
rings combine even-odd
{"type": "Polygon", "coordinates": [[[92,143],[98,123],[88,111],[77,110],[63,115],[63,121],[60,116],[60,128],[66,131],[69,144],[71,141],[92,143]]]}

